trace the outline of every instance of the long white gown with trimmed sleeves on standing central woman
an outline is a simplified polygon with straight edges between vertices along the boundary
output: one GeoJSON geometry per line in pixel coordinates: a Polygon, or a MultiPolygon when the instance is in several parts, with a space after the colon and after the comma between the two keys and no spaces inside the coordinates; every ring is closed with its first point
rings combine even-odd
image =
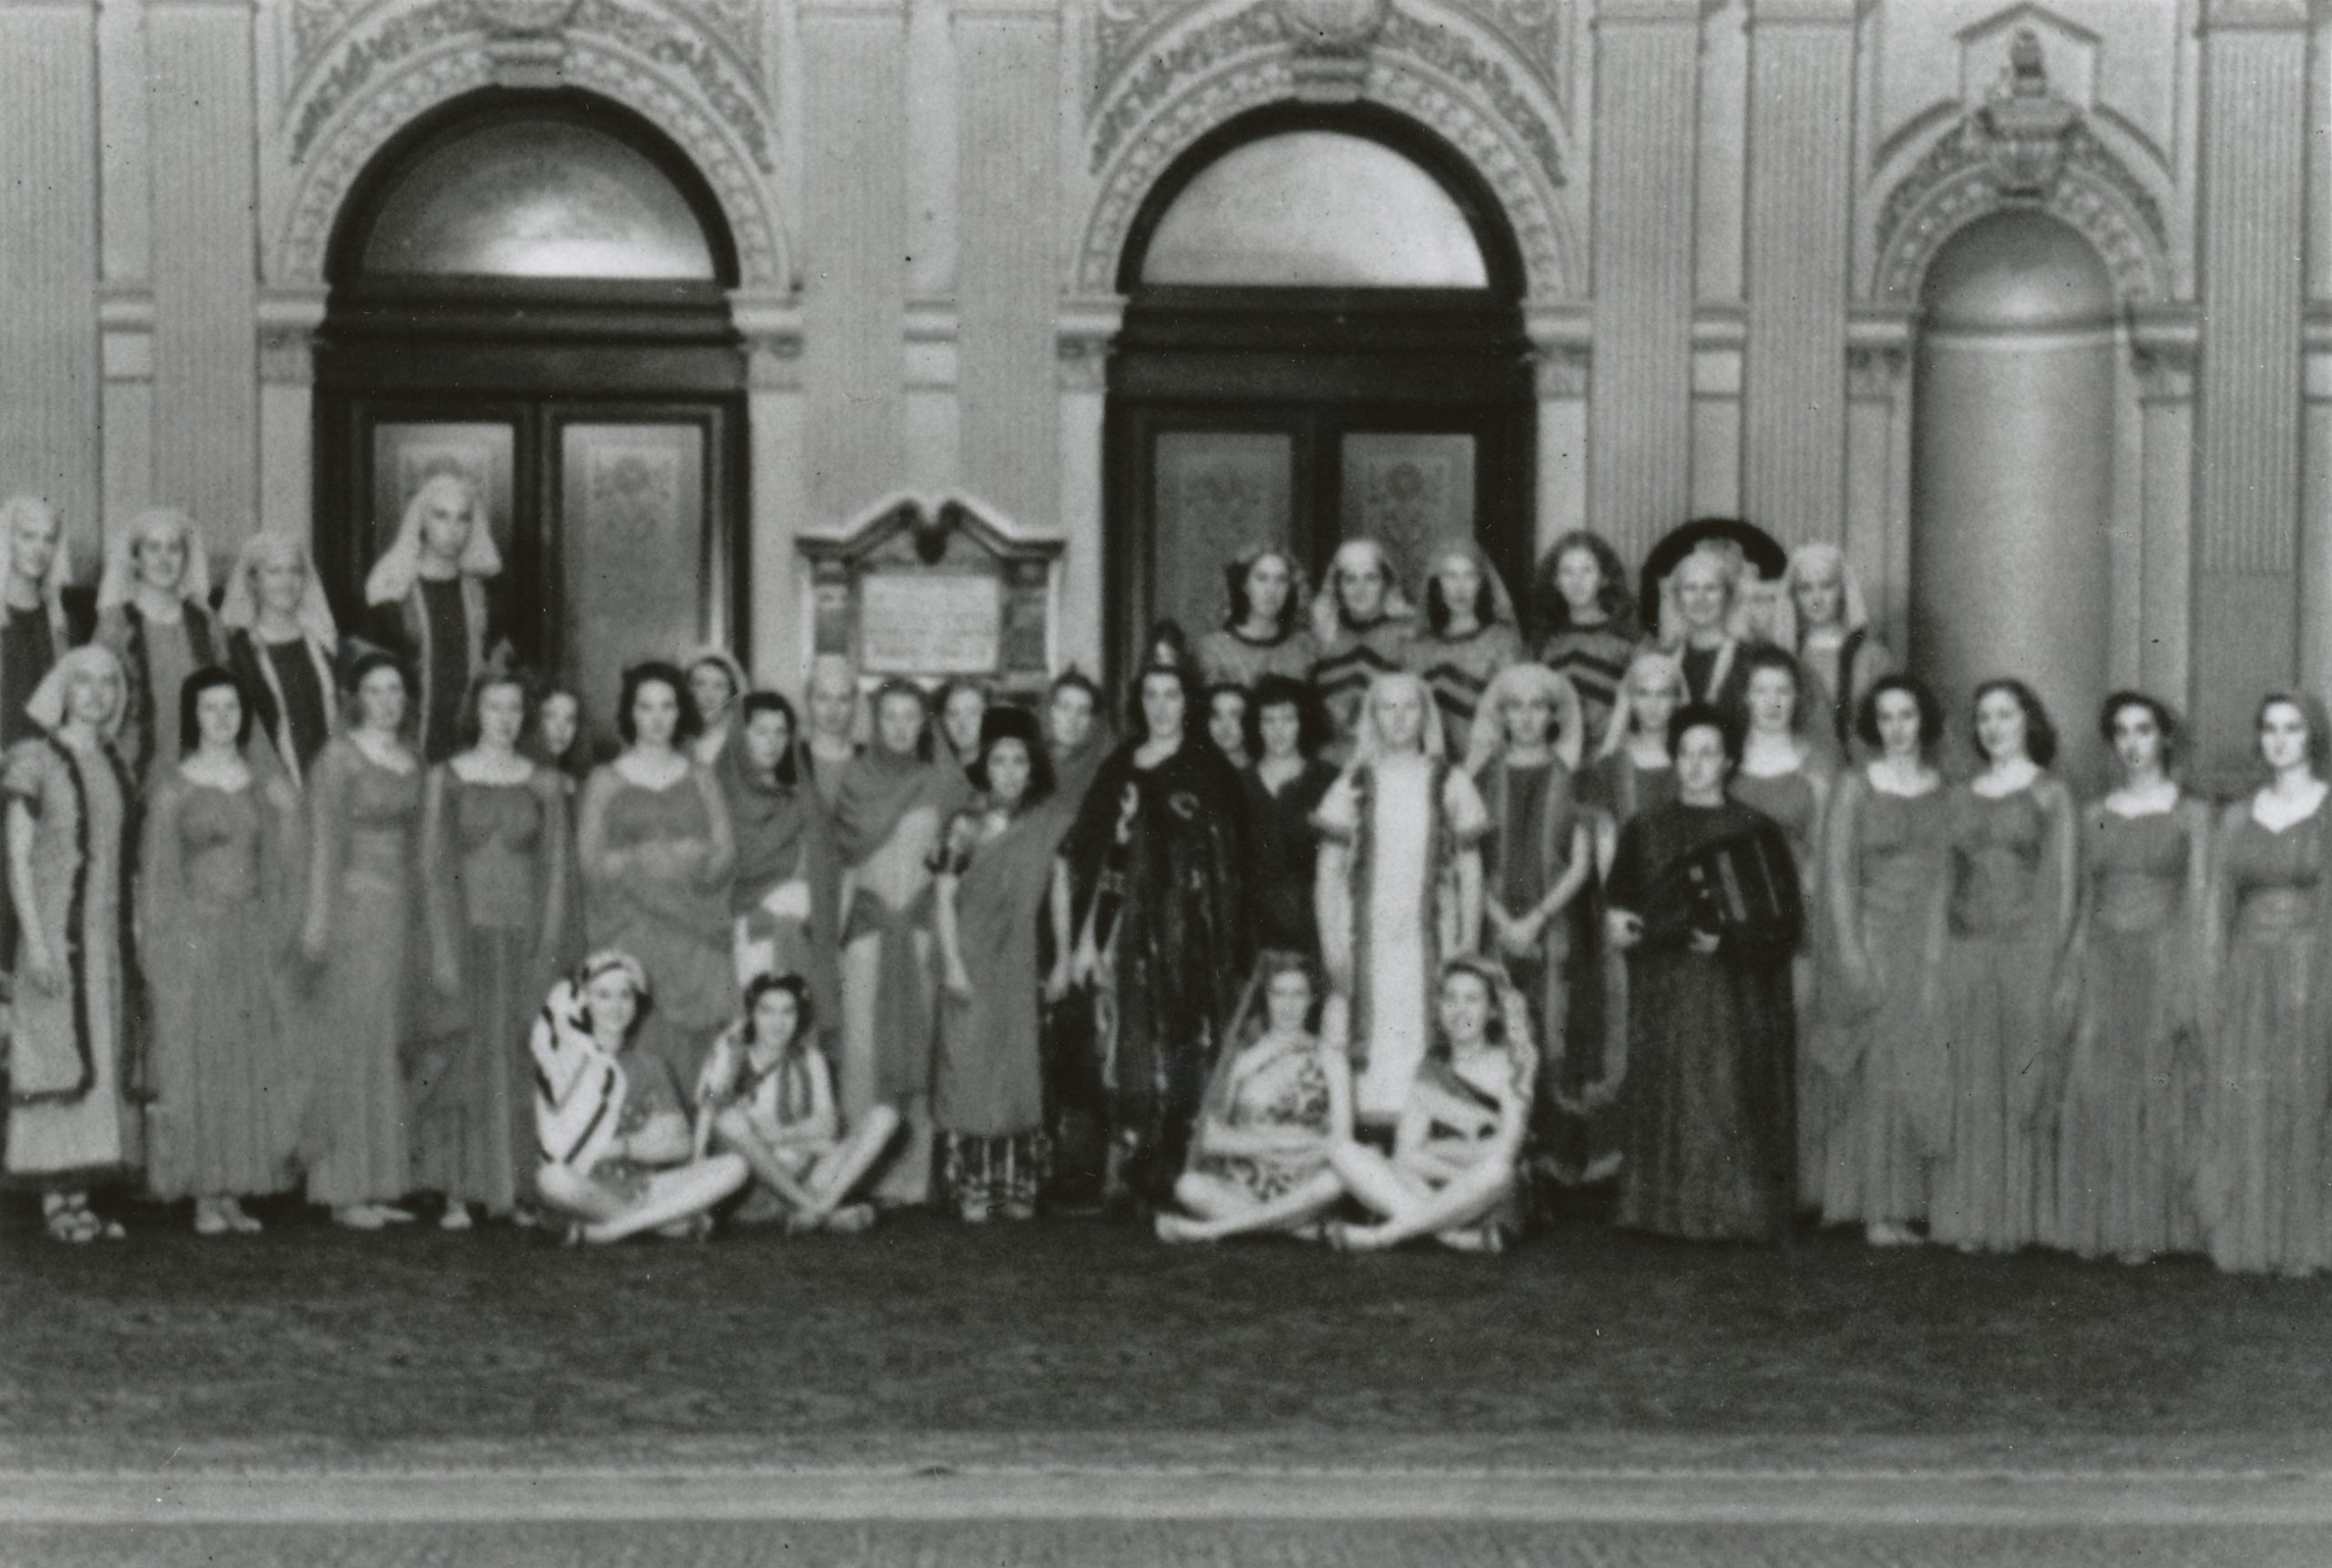
{"type": "Polygon", "coordinates": [[[1390,1123],[1432,1041],[1434,976],[1458,951],[1458,855],[1488,818],[1471,778],[1409,753],[1346,769],[1313,820],[1348,848],[1343,899],[1320,923],[1353,960],[1353,1114],[1390,1123]]]}

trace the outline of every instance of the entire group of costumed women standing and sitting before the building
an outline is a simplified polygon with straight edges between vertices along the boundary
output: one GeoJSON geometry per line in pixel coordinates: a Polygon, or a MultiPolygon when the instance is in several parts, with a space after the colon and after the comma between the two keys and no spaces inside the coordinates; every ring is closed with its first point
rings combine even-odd
{"type": "Polygon", "coordinates": [[[2122,692],[2078,804],[2013,678],[1975,767],[1840,555],[1768,622],[1740,561],[1660,636],[1593,534],[1523,643],[1455,543],[1306,592],[1227,568],[1110,732],[1070,671],[805,701],[704,650],[599,755],[508,666],[476,496],[427,482],[343,638],[298,541],[224,594],[149,513],[68,645],[54,513],[0,508],[14,1007],[5,1163],[61,1239],[138,1174],[205,1235],[303,1188],[352,1228],[716,1216],[856,1230],[1136,1209],[1166,1239],[1497,1249],[1621,1226],[2332,1265],[2332,727],[2257,713],[2215,808],[2122,692]]]}

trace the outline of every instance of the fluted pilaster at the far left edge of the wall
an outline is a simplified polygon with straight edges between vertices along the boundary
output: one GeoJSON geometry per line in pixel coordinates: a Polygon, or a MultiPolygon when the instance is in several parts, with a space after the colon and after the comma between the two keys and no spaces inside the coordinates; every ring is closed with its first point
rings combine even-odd
{"type": "Polygon", "coordinates": [[[98,508],[96,14],[0,7],[0,496],[65,517],[86,566],[98,508]]]}

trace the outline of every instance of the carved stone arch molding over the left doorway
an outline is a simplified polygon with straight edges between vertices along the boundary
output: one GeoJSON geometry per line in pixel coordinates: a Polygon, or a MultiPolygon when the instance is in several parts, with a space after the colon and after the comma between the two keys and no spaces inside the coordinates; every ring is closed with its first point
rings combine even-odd
{"type": "Polygon", "coordinates": [[[578,86],[658,123],[721,200],[742,282],[786,287],[791,259],[770,196],[774,156],[758,86],[721,47],[660,14],[618,0],[543,0],[527,14],[550,12],[555,28],[487,33],[478,0],[431,0],[352,37],[287,110],[298,172],[271,277],[319,282],[331,226],[373,154],[417,114],[515,77],[578,86]]]}

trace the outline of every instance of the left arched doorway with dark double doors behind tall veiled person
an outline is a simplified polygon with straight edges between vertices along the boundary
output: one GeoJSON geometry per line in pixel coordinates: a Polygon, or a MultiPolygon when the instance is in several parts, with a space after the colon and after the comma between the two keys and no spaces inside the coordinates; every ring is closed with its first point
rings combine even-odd
{"type": "Polygon", "coordinates": [[[634,659],[744,652],[737,256],[669,140],[588,93],[459,98],[373,158],[326,277],[315,548],[343,624],[452,468],[518,655],[597,720],[634,659]]]}

